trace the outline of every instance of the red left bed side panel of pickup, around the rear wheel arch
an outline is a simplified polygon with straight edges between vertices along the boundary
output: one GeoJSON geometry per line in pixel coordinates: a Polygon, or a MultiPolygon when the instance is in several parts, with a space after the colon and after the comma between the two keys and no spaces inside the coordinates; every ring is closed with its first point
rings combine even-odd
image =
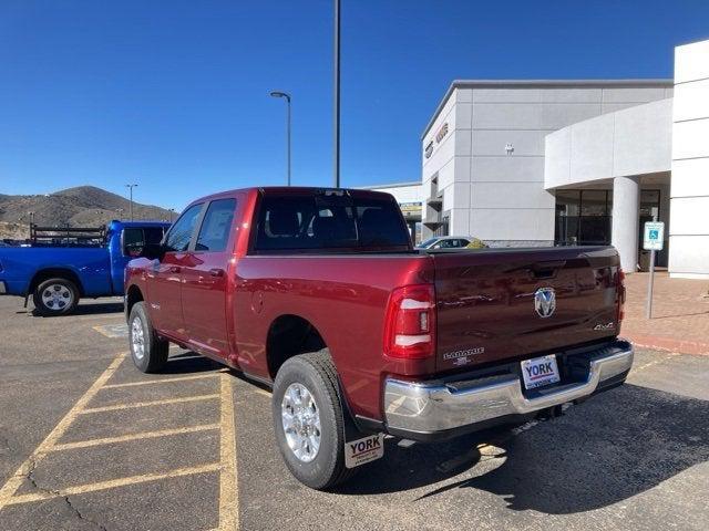
{"type": "Polygon", "coordinates": [[[432,280],[432,259],[418,253],[242,258],[233,304],[238,364],[271,379],[275,367],[265,352],[269,330],[279,319],[304,319],[330,348],[353,413],[380,418],[387,374],[434,371],[433,358],[383,356],[389,295],[397,287],[432,280]]]}

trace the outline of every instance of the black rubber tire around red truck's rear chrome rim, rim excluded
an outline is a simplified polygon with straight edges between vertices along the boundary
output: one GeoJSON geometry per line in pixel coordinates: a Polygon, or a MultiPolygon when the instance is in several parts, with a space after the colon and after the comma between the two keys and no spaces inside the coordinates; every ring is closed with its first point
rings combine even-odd
{"type": "Polygon", "coordinates": [[[294,356],[282,364],[274,383],[271,409],[278,448],[298,481],[312,489],[325,490],[354,475],[357,469],[345,466],[345,412],[337,373],[327,348],[294,356]],[[319,413],[320,447],[309,462],[300,460],[288,446],[281,420],[281,404],[291,384],[301,384],[310,392],[319,413]]]}

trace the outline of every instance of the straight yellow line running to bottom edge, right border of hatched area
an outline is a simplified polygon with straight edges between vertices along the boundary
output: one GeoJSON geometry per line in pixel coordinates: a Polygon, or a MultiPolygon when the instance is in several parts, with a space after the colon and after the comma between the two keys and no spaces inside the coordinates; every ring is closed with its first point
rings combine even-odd
{"type": "Polygon", "coordinates": [[[219,441],[219,530],[239,529],[239,490],[236,469],[236,426],[234,421],[234,397],[232,378],[222,374],[222,431],[219,441]]]}

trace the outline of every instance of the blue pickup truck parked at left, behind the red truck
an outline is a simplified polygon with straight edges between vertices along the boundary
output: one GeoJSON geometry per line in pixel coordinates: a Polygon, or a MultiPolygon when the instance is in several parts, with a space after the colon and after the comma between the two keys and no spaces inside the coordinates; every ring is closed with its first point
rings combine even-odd
{"type": "Polygon", "coordinates": [[[31,247],[0,248],[0,294],[32,296],[40,315],[64,315],[81,298],[123,294],[123,271],[169,223],[111,221],[93,229],[32,226],[31,247]]]}

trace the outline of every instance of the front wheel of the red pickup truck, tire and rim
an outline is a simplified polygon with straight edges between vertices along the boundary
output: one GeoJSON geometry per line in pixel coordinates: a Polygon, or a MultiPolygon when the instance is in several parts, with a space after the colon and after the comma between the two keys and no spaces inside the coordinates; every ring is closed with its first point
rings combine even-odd
{"type": "Polygon", "coordinates": [[[157,373],[165,367],[169,342],[162,340],[155,333],[143,302],[136,302],[131,309],[129,344],[133,363],[143,373],[157,373]],[[143,345],[142,352],[138,346],[141,342],[143,345]]]}

